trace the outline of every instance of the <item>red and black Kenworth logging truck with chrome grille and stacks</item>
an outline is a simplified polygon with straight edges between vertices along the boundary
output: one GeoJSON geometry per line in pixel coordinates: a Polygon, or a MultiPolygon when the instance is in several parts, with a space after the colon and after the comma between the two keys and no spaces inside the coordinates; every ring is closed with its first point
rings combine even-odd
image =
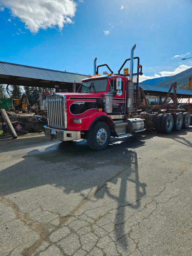
{"type": "Polygon", "coordinates": [[[157,132],[169,133],[188,128],[190,114],[177,109],[176,87],[173,83],[161,106],[147,106],[145,94],[139,87],[142,66],[139,57],[124,61],[117,74],[107,64],[96,67],[94,74],[82,80],[79,92],[53,93],[47,97],[48,125],[44,126],[45,136],[60,141],[85,139],[94,150],[108,147],[110,137],[126,137],[133,133],[155,128],[157,132]],[[137,60],[137,73],[133,74],[133,60],[137,60]],[[130,73],[124,69],[130,60],[130,73]],[[107,66],[110,73],[99,74],[99,67],[107,66]],[[173,92],[173,104],[166,104],[173,92]],[[163,112],[162,112],[163,111],[163,112]]]}

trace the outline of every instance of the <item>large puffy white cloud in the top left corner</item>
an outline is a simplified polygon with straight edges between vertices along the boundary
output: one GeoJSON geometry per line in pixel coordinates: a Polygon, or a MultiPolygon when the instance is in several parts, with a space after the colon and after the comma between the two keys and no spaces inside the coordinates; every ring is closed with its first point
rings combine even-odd
{"type": "MultiPolygon", "coordinates": [[[[76,3],[73,0],[0,0],[18,17],[25,28],[37,33],[40,28],[47,29],[58,26],[60,31],[65,24],[74,23],[76,3]]],[[[3,11],[0,6],[0,10],[3,11]]]]}

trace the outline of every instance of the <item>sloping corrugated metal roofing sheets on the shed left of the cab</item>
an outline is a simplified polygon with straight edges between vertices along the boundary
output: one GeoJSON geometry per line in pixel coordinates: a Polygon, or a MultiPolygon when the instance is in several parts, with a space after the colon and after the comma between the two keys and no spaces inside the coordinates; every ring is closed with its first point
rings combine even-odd
{"type": "Polygon", "coordinates": [[[76,83],[81,83],[81,80],[86,77],[86,75],[82,74],[46,68],[36,68],[3,61],[0,61],[0,75],[19,76],[25,78],[41,79],[46,81],[59,81],[65,83],[74,83],[74,81],[76,81],[76,83]]]}

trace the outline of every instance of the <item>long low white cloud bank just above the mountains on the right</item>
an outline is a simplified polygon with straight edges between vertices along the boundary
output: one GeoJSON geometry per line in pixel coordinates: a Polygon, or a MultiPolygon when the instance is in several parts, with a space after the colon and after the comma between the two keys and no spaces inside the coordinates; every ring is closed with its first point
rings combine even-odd
{"type": "Polygon", "coordinates": [[[139,82],[142,82],[142,81],[145,81],[147,79],[152,79],[152,78],[157,78],[157,77],[162,77],[162,76],[174,76],[176,74],[179,74],[180,72],[182,71],[185,71],[186,69],[188,68],[192,68],[191,66],[188,66],[186,64],[182,64],[180,65],[178,68],[175,68],[173,71],[161,71],[161,72],[158,72],[160,75],[158,74],[155,74],[154,76],[145,76],[145,75],[142,75],[140,76],[139,78],[139,82]]]}

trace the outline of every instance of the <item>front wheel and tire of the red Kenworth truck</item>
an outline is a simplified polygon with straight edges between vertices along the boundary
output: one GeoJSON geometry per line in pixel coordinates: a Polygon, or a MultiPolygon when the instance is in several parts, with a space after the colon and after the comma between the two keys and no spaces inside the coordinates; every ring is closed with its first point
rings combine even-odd
{"type": "Polygon", "coordinates": [[[109,145],[111,132],[104,122],[96,122],[90,131],[87,131],[88,146],[94,150],[105,149],[109,145]]]}

